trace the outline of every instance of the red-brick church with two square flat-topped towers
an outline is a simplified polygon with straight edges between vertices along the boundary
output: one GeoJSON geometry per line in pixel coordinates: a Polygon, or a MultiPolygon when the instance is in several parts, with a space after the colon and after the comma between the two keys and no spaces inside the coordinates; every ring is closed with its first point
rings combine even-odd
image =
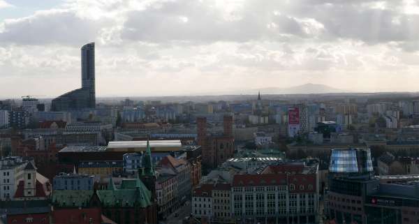
{"type": "Polygon", "coordinates": [[[233,157],[234,137],[233,137],[233,117],[224,115],[223,134],[208,135],[207,119],[198,117],[196,119],[198,144],[202,147],[203,165],[208,168],[221,165],[228,158],[233,157]]]}

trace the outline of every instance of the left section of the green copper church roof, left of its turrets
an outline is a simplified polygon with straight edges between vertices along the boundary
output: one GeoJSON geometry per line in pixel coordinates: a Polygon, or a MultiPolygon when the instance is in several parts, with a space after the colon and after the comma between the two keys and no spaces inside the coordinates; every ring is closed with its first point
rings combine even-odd
{"type": "Polygon", "coordinates": [[[59,207],[87,207],[93,190],[54,190],[52,203],[59,207]]]}

